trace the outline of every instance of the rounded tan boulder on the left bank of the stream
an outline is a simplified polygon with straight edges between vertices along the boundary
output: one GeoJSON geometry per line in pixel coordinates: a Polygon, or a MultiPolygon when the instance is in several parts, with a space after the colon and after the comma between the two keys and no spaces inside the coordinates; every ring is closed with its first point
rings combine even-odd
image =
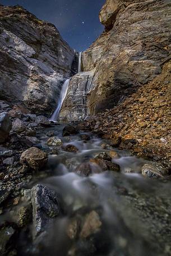
{"type": "Polygon", "coordinates": [[[42,150],[32,147],[27,149],[21,154],[20,162],[27,164],[29,167],[34,170],[39,170],[42,168],[48,161],[48,154],[42,150]]]}

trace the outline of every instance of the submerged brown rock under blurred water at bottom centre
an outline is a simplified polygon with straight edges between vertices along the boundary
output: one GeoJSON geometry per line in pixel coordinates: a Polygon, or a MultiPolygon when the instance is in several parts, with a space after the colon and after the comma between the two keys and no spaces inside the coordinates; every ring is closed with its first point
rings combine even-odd
{"type": "Polygon", "coordinates": [[[80,233],[80,237],[87,238],[91,234],[98,232],[101,225],[102,223],[100,221],[99,214],[95,211],[90,212],[85,218],[85,221],[80,233]]]}

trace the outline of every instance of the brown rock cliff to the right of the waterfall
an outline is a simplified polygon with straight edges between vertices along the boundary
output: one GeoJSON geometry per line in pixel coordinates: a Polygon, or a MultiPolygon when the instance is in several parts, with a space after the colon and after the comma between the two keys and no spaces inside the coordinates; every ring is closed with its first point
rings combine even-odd
{"type": "Polygon", "coordinates": [[[169,0],[107,0],[99,14],[105,31],[82,53],[84,73],[71,79],[63,118],[112,108],[160,74],[170,58],[170,7],[169,0]]]}

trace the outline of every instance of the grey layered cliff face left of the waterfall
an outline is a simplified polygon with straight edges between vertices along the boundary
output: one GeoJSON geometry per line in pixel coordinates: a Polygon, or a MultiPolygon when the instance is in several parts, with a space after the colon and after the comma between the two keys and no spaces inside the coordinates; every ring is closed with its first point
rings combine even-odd
{"type": "Polygon", "coordinates": [[[73,49],[56,27],[20,6],[0,6],[0,97],[51,113],[63,81],[76,73],[73,49]]]}

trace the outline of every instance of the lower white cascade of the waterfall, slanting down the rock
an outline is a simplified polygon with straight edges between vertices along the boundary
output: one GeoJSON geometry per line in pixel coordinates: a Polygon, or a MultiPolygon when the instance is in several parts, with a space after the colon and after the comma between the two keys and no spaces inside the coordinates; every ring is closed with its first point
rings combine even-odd
{"type": "Polygon", "coordinates": [[[70,80],[71,80],[71,77],[69,79],[67,79],[66,81],[64,81],[64,83],[62,85],[61,93],[59,95],[58,105],[57,105],[57,108],[54,111],[52,117],[50,117],[50,121],[54,121],[54,122],[57,121],[59,111],[62,107],[63,100],[67,95],[67,90],[68,90],[68,86],[70,84],[70,80]]]}

